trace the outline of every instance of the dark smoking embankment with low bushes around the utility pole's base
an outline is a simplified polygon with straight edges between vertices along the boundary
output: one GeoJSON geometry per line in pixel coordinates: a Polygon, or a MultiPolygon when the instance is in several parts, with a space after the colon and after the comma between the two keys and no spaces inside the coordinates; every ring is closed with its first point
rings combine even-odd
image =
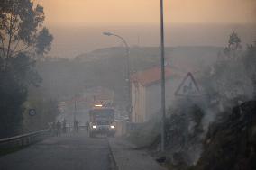
{"type": "Polygon", "coordinates": [[[206,133],[202,129],[204,112],[198,107],[188,110],[167,120],[165,157],[159,156],[159,121],[141,125],[129,140],[160,157],[159,162],[171,170],[256,169],[256,101],[219,113],[206,133]]]}

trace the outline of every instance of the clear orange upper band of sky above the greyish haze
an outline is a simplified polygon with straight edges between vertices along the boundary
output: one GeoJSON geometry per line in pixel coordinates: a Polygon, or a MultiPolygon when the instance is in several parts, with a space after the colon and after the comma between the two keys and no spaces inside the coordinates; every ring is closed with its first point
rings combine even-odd
{"type": "MultiPolygon", "coordinates": [[[[160,0],[35,0],[49,25],[110,25],[159,22],[160,0]]],[[[255,22],[256,0],[165,0],[166,22],[255,22]]]]}

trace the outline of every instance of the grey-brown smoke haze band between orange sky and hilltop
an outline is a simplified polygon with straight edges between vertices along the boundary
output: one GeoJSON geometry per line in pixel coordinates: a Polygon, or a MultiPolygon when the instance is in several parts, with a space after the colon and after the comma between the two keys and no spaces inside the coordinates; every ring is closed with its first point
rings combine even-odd
{"type": "MultiPolygon", "coordinates": [[[[166,46],[217,46],[224,47],[232,31],[239,34],[242,45],[256,39],[254,24],[166,24],[166,46]]],[[[155,46],[160,44],[158,25],[130,26],[52,26],[54,34],[50,56],[75,58],[94,49],[121,46],[114,37],[105,37],[103,31],[121,34],[130,46],[155,46]]]]}

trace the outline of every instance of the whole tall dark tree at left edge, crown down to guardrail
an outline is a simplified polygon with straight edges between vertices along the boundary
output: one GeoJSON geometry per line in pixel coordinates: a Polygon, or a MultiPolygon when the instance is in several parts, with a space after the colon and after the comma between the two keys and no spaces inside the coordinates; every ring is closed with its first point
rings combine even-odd
{"type": "Polygon", "coordinates": [[[36,59],[53,40],[43,7],[31,0],[0,0],[0,138],[18,133],[29,85],[40,85],[36,59]]]}

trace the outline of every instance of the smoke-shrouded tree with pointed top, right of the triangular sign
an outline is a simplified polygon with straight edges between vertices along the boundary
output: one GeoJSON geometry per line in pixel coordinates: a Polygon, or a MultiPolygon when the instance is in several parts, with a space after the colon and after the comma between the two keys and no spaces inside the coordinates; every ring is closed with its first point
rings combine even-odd
{"type": "Polygon", "coordinates": [[[221,112],[251,98],[253,86],[242,62],[243,52],[241,39],[233,32],[227,47],[219,53],[221,58],[206,72],[206,91],[221,112]]]}

